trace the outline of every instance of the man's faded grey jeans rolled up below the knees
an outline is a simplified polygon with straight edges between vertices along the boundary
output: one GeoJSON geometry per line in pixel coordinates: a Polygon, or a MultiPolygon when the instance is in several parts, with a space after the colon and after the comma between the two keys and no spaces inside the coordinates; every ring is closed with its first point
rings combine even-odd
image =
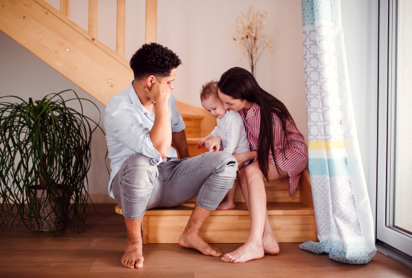
{"type": "Polygon", "coordinates": [[[128,219],[141,218],[154,207],[176,207],[196,196],[199,206],[216,210],[238,169],[236,158],[225,151],[158,166],[151,160],[140,153],[130,155],[112,181],[113,195],[128,219]]]}

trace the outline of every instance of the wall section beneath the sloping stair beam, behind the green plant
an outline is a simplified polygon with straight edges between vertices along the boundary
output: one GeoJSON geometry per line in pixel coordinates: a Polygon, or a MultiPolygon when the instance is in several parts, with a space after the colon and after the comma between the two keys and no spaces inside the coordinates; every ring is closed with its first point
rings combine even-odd
{"type": "MultiPolygon", "coordinates": [[[[36,57],[30,51],[19,45],[15,40],[0,31],[0,96],[14,95],[28,101],[41,99],[45,94],[73,89],[79,97],[91,99],[102,112],[101,126],[103,127],[103,115],[106,108],[87,92],[73,84],[69,79],[58,73],[51,66],[36,57]]],[[[69,99],[67,94],[67,98],[69,99]]],[[[1,100],[3,101],[3,100],[1,100]]],[[[78,109],[78,105],[73,104],[78,109]]],[[[85,114],[94,121],[100,120],[98,111],[92,105],[84,106],[85,114]]],[[[106,138],[101,131],[95,131],[91,145],[91,169],[89,170],[89,193],[97,194],[93,201],[104,202],[104,194],[108,184],[104,156],[106,155],[106,138]]],[[[111,198],[108,197],[108,201],[111,198]]]]}

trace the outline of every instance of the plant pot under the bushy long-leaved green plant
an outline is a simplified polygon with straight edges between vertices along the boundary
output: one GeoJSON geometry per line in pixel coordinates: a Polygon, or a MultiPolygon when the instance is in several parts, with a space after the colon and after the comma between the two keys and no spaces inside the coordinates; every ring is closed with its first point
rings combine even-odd
{"type": "MultiPolygon", "coordinates": [[[[67,225],[67,213],[70,198],[64,198],[65,194],[60,184],[57,190],[44,190],[41,186],[30,186],[27,190],[30,205],[34,205],[34,214],[30,217],[32,227],[36,231],[58,231],[65,229],[67,225]],[[34,195],[33,195],[34,193],[34,195]],[[47,194],[54,196],[47,196],[47,194]]],[[[71,194],[70,194],[71,195],[71,194]]]]}

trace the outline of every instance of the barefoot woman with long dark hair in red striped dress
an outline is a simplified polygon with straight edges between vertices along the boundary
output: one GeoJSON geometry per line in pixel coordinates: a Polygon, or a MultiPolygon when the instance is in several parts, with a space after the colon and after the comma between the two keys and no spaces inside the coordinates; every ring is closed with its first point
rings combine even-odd
{"type": "MultiPolygon", "coordinates": [[[[218,93],[225,108],[240,112],[247,130],[251,151],[234,156],[238,163],[253,160],[238,174],[251,215],[249,238],[242,247],[224,255],[222,260],[247,262],[261,258],[265,253],[279,253],[266,210],[264,181],[288,181],[289,195],[292,195],[298,186],[300,173],[308,163],[308,147],[285,105],[262,90],[249,71],[231,68],[223,73],[218,82],[218,93]]],[[[219,138],[212,140],[211,144],[216,144],[219,149],[219,138]]]]}

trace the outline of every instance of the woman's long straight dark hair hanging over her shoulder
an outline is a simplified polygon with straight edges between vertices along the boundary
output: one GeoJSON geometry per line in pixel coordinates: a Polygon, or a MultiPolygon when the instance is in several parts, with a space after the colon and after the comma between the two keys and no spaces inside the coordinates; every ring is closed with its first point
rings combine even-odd
{"type": "Polygon", "coordinates": [[[286,131],[286,122],[293,121],[292,116],[288,112],[286,106],[279,101],[279,99],[273,97],[273,95],[264,91],[260,88],[255,77],[249,71],[244,68],[231,68],[226,71],[220,77],[218,81],[218,88],[220,92],[227,94],[233,99],[246,100],[251,103],[255,102],[260,107],[260,132],[258,139],[258,164],[260,170],[266,180],[268,179],[269,172],[269,151],[272,151],[273,160],[275,161],[275,166],[277,173],[279,173],[279,167],[277,166],[275,157],[275,148],[273,146],[273,133],[282,132],[282,149],[284,156],[286,158],[286,147],[288,146],[288,138],[286,131]],[[273,123],[272,113],[275,113],[281,122],[282,130],[277,131],[273,123]]]}

